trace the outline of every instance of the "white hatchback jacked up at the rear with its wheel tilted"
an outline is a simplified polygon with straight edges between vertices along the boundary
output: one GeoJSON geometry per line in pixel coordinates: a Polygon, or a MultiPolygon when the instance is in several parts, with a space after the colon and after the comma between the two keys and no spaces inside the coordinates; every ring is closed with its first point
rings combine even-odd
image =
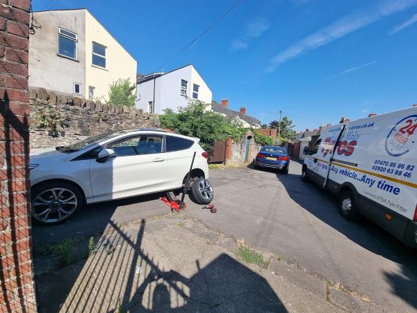
{"type": "Polygon", "coordinates": [[[31,154],[32,216],[40,223],[61,222],[95,202],[175,191],[191,170],[190,196],[213,200],[207,153],[199,138],[158,129],[112,131],[31,154]]]}

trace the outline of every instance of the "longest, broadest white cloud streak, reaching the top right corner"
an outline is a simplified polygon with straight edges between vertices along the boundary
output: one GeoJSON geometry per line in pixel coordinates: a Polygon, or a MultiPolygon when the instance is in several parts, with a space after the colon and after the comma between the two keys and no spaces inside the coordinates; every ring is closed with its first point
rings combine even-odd
{"type": "Polygon", "coordinates": [[[324,29],[320,29],[306,38],[296,42],[291,47],[270,59],[266,72],[273,72],[282,63],[291,60],[297,56],[304,54],[306,51],[316,49],[323,45],[327,45],[338,38],[357,31],[368,24],[371,24],[382,17],[398,13],[406,8],[414,6],[417,0],[390,0],[384,1],[379,6],[366,13],[355,13],[342,17],[338,21],[330,24],[324,29]]]}

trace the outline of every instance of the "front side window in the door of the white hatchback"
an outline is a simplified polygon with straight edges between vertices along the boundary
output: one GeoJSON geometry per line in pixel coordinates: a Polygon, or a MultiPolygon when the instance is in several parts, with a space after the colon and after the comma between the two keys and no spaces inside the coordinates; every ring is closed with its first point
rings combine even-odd
{"type": "Polygon", "coordinates": [[[162,152],[162,136],[136,136],[124,138],[108,145],[116,157],[162,152]]]}

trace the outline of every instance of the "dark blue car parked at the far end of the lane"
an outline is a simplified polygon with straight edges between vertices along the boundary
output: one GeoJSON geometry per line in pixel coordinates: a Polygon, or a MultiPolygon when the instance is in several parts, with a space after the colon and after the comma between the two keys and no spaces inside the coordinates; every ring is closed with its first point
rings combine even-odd
{"type": "Polygon", "coordinates": [[[261,147],[259,153],[256,154],[254,166],[255,168],[277,168],[283,170],[285,174],[288,174],[290,158],[284,147],[265,145],[261,147]]]}

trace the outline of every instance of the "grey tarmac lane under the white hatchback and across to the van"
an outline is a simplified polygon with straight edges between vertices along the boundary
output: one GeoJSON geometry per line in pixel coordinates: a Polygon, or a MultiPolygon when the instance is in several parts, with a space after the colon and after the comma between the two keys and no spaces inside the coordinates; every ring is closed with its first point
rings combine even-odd
{"type": "MultiPolygon", "coordinates": [[[[336,199],[302,183],[300,172],[294,161],[288,175],[250,167],[212,170],[218,213],[191,202],[185,213],[354,289],[388,310],[416,311],[417,251],[373,223],[343,219],[336,199]]],[[[33,227],[33,245],[36,250],[62,239],[87,237],[103,232],[109,220],[124,224],[166,214],[167,209],[158,195],[91,205],[62,225],[33,227]]]]}

